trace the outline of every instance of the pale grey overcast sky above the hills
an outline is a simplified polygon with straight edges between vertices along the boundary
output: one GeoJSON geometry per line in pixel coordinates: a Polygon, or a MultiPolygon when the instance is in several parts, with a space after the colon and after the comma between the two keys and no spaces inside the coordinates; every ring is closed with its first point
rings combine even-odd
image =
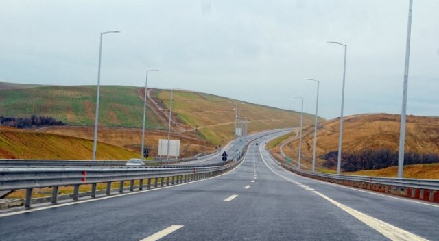
{"type": "MultiPolygon", "coordinates": [[[[408,0],[0,0],[0,81],[184,88],[305,112],[401,114],[408,0]]],[[[439,1],[414,0],[407,114],[439,116],[439,1]]]]}

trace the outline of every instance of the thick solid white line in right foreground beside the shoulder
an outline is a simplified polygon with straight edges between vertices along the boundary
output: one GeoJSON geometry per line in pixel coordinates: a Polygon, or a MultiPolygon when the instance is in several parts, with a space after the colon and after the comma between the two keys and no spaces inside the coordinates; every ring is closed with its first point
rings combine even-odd
{"type": "Polygon", "coordinates": [[[354,210],[351,207],[348,207],[346,205],[343,205],[342,203],[338,203],[337,201],[330,199],[329,197],[325,196],[324,194],[321,194],[320,192],[313,191],[315,194],[318,194],[322,198],[326,199],[333,205],[340,207],[344,212],[347,212],[348,214],[351,214],[361,222],[365,223],[366,225],[370,226],[372,229],[375,229],[379,231],[383,236],[389,238],[390,240],[426,240],[425,238],[422,238],[420,236],[416,236],[414,233],[410,233],[408,231],[405,231],[403,229],[400,229],[399,227],[395,227],[391,225],[390,223],[385,223],[377,218],[373,218],[371,216],[368,216],[367,214],[363,214],[362,212],[358,212],[357,210],[354,210]]]}

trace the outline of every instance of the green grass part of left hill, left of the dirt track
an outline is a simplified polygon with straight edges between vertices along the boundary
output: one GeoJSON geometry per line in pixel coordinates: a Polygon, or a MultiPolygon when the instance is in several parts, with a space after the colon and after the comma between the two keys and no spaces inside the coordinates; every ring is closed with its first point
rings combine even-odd
{"type": "MultiPolygon", "coordinates": [[[[143,100],[137,87],[101,86],[99,125],[140,128],[143,100]]],[[[67,125],[94,125],[96,86],[38,86],[0,88],[0,114],[3,116],[52,116],[67,125]]],[[[148,108],[148,129],[165,126],[148,108]]]]}

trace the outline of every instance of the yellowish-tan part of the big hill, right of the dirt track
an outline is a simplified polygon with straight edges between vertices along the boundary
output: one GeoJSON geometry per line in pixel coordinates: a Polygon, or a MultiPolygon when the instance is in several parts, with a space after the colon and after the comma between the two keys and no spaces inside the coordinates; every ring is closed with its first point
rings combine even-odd
{"type": "MultiPolygon", "coordinates": [[[[169,109],[169,90],[158,90],[155,96],[169,109]]],[[[211,94],[178,90],[174,91],[173,100],[173,114],[178,120],[191,129],[197,129],[202,138],[213,144],[223,144],[226,140],[233,139],[235,103],[238,104],[239,116],[250,121],[249,132],[300,125],[300,112],[255,105],[211,94]]],[[[303,121],[304,125],[310,125],[313,123],[313,115],[304,114],[303,121]]]]}

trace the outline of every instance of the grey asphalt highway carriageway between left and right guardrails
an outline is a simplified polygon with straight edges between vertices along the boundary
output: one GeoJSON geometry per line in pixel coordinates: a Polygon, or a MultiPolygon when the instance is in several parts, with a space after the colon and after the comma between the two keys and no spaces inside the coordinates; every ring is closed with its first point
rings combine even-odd
{"type": "Polygon", "coordinates": [[[0,214],[1,240],[439,240],[439,205],[300,177],[258,142],[211,179],[0,214]]]}

